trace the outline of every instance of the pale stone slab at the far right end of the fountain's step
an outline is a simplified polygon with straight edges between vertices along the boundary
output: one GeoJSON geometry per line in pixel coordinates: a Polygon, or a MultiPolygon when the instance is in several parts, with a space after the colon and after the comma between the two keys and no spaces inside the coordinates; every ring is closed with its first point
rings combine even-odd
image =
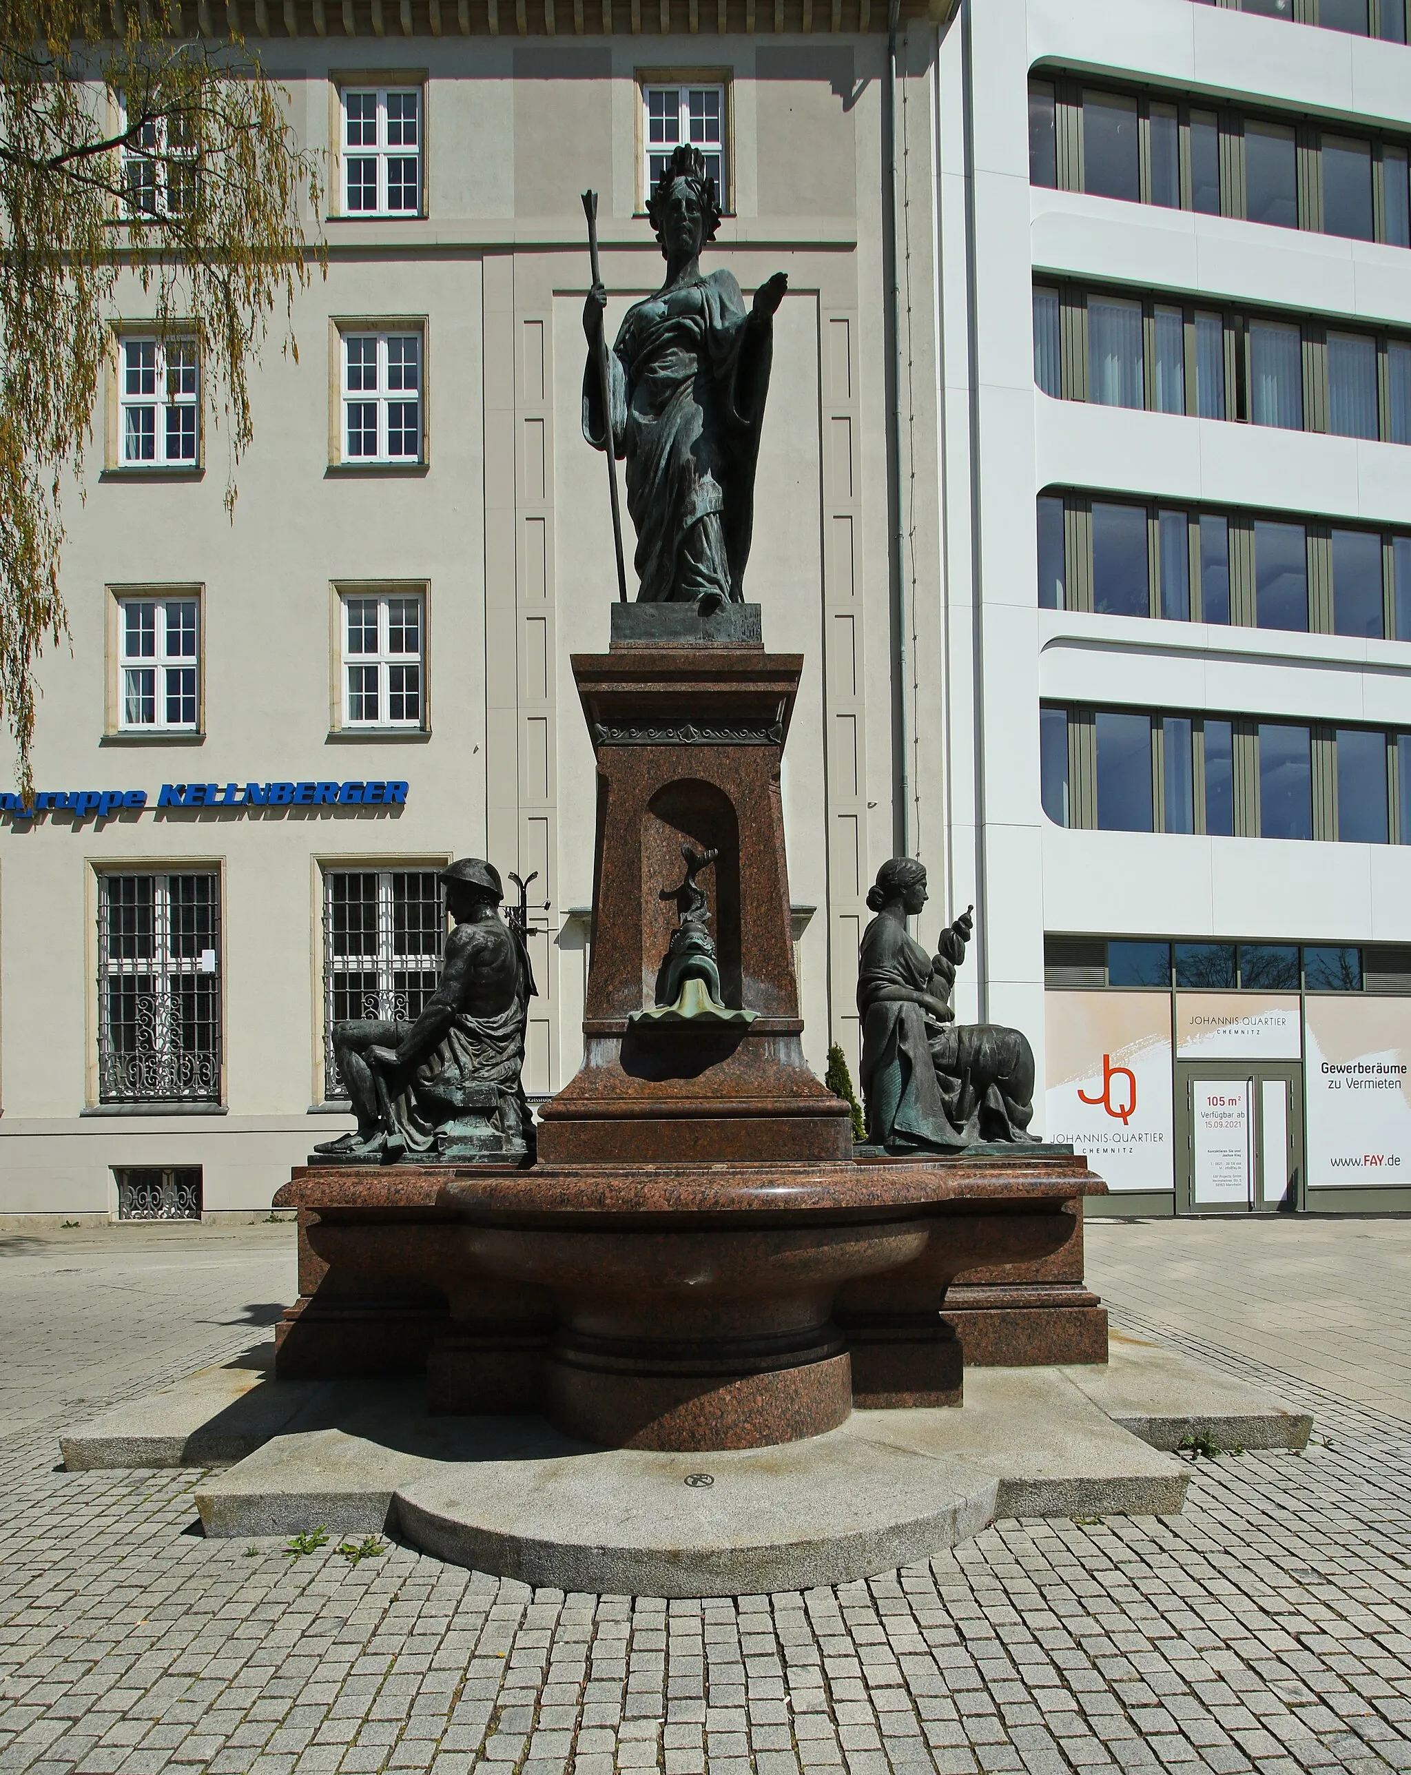
{"type": "Polygon", "coordinates": [[[1109,1333],[1106,1363],[1060,1372],[1152,1448],[1178,1448],[1202,1434],[1221,1448],[1306,1448],[1313,1429],[1312,1413],[1127,1331],[1109,1333]]]}

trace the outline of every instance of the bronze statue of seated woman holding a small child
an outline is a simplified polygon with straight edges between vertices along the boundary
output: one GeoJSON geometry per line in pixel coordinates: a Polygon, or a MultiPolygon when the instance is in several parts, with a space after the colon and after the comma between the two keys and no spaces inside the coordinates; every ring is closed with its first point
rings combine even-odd
{"type": "Polygon", "coordinates": [[[958,1024],[951,1008],[973,909],[941,934],[932,957],[907,934],[907,916],[925,903],[926,872],[912,857],[884,863],[868,891],[877,918],[863,932],[857,971],[868,1141],[889,1152],[1031,1141],[1028,1037],[1001,1024],[958,1024]]]}

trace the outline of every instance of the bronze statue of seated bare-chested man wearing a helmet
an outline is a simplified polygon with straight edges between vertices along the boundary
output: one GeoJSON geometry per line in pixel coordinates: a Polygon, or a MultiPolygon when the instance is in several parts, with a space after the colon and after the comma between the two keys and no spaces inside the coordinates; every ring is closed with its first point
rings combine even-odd
{"type": "Polygon", "coordinates": [[[440,985],[415,1022],[334,1024],[334,1056],[359,1127],[316,1147],[319,1157],[364,1164],[534,1157],[520,1079],[536,996],[529,951],[499,916],[504,889],[488,863],[461,857],[440,879],[456,921],[440,985]]]}

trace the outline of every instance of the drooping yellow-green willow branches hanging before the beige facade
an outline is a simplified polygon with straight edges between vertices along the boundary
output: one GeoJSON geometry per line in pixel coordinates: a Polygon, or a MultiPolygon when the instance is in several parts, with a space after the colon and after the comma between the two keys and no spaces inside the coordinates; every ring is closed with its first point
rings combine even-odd
{"type": "Polygon", "coordinates": [[[0,712],[25,799],[35,660],[67,635],[60,493],[92,440],[119,282],[195,339],[234,513],[248,366],[280,309],[298,355],[293,302],[321,261],[300,222],[300,201],[321,215],[319,160],[288,96],[240,39],[181,32],[176,0],[0,0],[0,712]]]}

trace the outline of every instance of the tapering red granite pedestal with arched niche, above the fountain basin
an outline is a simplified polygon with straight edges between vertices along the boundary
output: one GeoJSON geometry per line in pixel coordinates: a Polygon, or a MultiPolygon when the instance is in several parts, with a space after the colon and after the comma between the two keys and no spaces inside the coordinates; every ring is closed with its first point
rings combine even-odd
{"type": "Polygon", "coordinates": [[[802,659],[648,643],[573,655],[598,765],[593,966],[579,1076],[543,1108],[548,1164],[827,1161],[847,1106],[813,1076],[793,982],[779,761],[802,659]],[[747,1028],[632,1026],[655,1003],[682,843],[701,875],[721,996],[747,1028]]]}

